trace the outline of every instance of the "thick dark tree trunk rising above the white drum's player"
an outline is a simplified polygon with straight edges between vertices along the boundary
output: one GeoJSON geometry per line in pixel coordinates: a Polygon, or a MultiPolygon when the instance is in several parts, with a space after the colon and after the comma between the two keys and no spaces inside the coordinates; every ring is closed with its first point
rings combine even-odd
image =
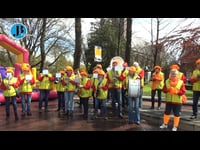
{"type": "Polygon", "coordinates": [[[127,18],[125,61],[130,64],[132,18],[127,18]]]}

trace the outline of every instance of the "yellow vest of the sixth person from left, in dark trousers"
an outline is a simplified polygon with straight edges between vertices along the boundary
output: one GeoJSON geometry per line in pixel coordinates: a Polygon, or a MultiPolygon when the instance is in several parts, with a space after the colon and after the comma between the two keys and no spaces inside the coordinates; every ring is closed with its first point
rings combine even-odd
{"type": "MultiPolygon", "coordinates": [[[[89,78],[84,78],[84,79],[81,79],[80,80],[80,84],[85,86],[88,82],[88,80],[90,80],[89,78]]],[[[82,97],[82,98],[88,98],[91,96],[91,88],[89,89],[84,89],[84,88],[80,88],[79,89],[79,96],[82,97]]]]}

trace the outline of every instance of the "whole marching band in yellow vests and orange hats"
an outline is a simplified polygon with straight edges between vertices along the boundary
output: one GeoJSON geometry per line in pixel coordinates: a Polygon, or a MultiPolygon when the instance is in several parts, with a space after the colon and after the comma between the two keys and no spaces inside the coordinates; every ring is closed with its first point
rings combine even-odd
{"type": "MultiPolygon", "coordinates": [[[[200,60],[196,62],[197,66],[200,64],[200,60]]],[[[123,69],[119,69],[118,62],[113,61],[112,67],[104,72],[101,64],[93,70],[93,75],[89,78],[86,70],[82,69],[74,71],[71,66],[66,66],[63,71],[56,73],[53,76],[48,70],[44,70],[38,75],[40,99],[39,99],[39,113],[42,113],[42,102],[45,99],[45,112],[48,112],[48,96],[52,88],[52,83],[56,84],[56,90],[58,95],[58,108],[57,111],[63,111],[65,115],[73,116],[74,112],[74,94],[77,92],[80,97],[80,104],[83,105],[84,113],[83,118],[88,118],[88,100],[93,96],[94,102],[94,115],[93,118],[97,118],[98,109],[100,108],[104,119],[107,120],[107,108],[106,102],[108,98],[108,92],[111,94],[112,115],[118,115],[123,118],[122,113],[122,98],[125,96],[128,105],[128,121],[129,124],[140,124],[140,97],[141,91],[144,87],[144,72],[141,75],[141,69],[137,68],[137,63],[133,66],[129,66],[124,63],[123,69]],[[123,93],[123,95],[122,95],[123,93]],[[118,104],[118,105],[116,105],[118,104]],[[101,106],[101,107],[100,107],[101,106]]],[[[22,74],[18,77],[14,77],[14,70],[11,67],[6,69],[6,78],[0,78],[0,89],[3,90],[3,94],[6,100],[6,118],[10,116],[10,100],[12,101],[14,108],[15,120],[18,120],[16,93],[19,90],[22,98],[22,116],[31,114],[31,95],[33,91],[33,85],[35,80],[31,74],[29,64],[22,64],[22,74]],[[26,106],[27,99],[27,106],[26,106]]],[[[154,67],[152,74],[152,91],[151,109],[154,109],[155,94],[158,92],[158,109],[161,107],[161,92],[165,93],[165,113],[163,117],[163,124],[160,128],[167,128],[167,124],[170,118],[170,112],[174,113],[173,131],[176,131],[179,125],[181,105],[185,98],[185,81],[186,77],[179,71],[177,65],[170,67],[169,77],[164,79],[164,73],[160,66],[154,67]]],[[[192,81],[199,82],[198,70],[193,75],[192,81]]],[[[198,93],[197,93],[198,94],[198,93]]],[[[196,98],[197,99],[197,98],[196,98]]],[[[194,111],[196,107],[193,106],[194,111]]],[[[193,114],[195,118],[197,114],[193,114]]]]}

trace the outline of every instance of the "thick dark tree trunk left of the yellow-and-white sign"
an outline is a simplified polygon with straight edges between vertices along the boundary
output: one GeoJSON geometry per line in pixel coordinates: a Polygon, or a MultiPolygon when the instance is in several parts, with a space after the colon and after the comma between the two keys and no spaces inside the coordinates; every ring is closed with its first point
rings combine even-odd
{"type": "Polygon", "coordinates": [[[74,69],[80,68],[81,49],[81,18],[75,18],[75,52],[74,52],[74,69]]]}

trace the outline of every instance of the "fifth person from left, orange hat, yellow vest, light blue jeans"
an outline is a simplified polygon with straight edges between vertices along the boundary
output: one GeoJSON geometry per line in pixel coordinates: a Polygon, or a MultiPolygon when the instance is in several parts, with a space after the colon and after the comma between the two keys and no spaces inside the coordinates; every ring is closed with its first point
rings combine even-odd
{"type": "Polygon", "coordinates": [[[65,115],[73,117],[74,113],[74,93],[76,89],[74,69],[66,66],[66,74],[62,80],[62,84],[66,86],[65,91],[65,115]]]}

